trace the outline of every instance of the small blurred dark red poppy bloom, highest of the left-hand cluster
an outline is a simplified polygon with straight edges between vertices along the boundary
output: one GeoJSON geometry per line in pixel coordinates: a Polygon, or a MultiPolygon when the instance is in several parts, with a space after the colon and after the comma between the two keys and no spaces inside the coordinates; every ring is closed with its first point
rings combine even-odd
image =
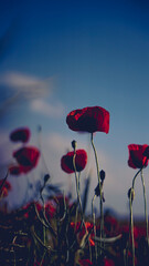
{"type": "Polygon", "coordinates": [[[12,142],[21,141],[21,142],[25,143],[29,141],[30,135],[31,135],[31,133],[28,127],[21,127],[21,129],[18,129],[18,130],[14,130],[11,132],[10,140],[12,142]]]}

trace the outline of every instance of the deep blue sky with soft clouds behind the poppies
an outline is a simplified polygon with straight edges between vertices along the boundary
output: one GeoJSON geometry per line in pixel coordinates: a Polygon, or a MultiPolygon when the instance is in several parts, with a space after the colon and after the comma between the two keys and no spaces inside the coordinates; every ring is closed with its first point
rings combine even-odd
{"type": "MultiPolygon", "coordinates": [[[[127,213],[127,190],[136,173],[127,166],[127,145],[149,144],[148,12],[147,1],[139,0],[1,1],[3,164],[8,155],[2,144],[11,146],[9,132],[28,125],[35,143],[41,124],[52,182],[58,182],[60,175],[65,182],[60,165],[54,166],[71,149],[70,142],[76,139],[79,147],[88,147],[87,135],[67,129],[66,114],[77,108],[103,106],[110,113],[110,130],[107,135],[97,133],[95,144],[100,167],[107,172],[106,206],[127,213]]],[[[135,212],[142,214],[140,184],[136,190],[135,212]]]]}

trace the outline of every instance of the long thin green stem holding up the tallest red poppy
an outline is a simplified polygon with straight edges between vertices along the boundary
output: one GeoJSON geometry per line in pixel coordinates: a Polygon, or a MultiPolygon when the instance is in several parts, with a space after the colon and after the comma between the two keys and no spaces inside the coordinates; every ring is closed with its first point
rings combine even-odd
{"type": "Polygon", "coordinates": [[[97,158],[97,152],[93,142],[93,133],[91,137],[92,146],[94,150],[95,161],[96,161],[96,167],[97,167],[97,178],[98,178],[98,185],[99,185],[99,209],[100,209],[100,238],[103,237],[104,232],[104,212],[103,212],[103,195],[102,195],[102,184],[99,178],[99,165],[98,165],[98,158],[97,158]]]}

